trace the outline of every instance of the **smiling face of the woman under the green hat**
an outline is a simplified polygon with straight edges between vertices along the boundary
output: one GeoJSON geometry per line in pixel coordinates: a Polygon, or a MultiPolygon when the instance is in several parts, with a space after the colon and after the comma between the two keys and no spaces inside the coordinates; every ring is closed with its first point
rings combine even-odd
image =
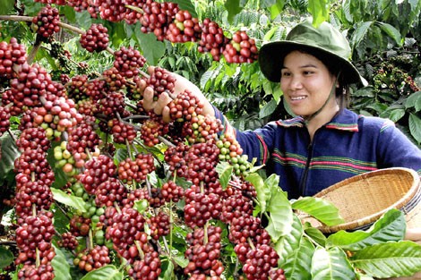
{"type": "MultiPolygon", "coordinates": [[[[313,55],[292,51],[285,56],[280,87],[294,114],[313,115],[329,98],[334,82],[335,76],[313,55]]],[[[319,115],[335,114],[337,110],[333,97],[319,115]]]]}

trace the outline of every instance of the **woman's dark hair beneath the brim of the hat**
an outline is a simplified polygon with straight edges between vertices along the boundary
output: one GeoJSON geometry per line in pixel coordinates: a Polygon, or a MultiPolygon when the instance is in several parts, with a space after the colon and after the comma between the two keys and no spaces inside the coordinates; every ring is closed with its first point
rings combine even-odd
{"type": "MultiPolygon", "coordinates": [[[[346,108],[349,104],[349,96],[350,96],[350,89],[349,84],[346,82],[345,74],[344,72],[341,72],[342,70],[342,63],[339,61],[339,59],[336,59],[335,56],[314,49],[314,48],[298,48],[298,49],[291,49],[285,56],[287,56],[290,52],[293,50],[296,50],[300,53],[307,54],[307,55],[313,55],[315,58],[320,60],[322,64],[326,66],[326,68],[331,72],[332,75],[335,75],[339,82],[339,88],[336,89],[336,100],[338,101],[339,109],[342,110],[346,108]]],[[[282,58],[282,64],[285,56],[282,58]]]]}

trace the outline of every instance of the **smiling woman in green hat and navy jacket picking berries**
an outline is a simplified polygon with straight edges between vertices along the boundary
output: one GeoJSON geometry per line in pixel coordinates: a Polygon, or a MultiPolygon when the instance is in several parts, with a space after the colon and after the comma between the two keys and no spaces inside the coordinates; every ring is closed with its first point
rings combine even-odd
{"type": "MultiPolygon", "coordinates": [[[[264,45],[259,53],[263,74],[280,82],[295,118],[266,124],[255,131],[236,131],[207,101],[201,91],[182,77],[176,90],[194,89],[205,103],[203,114],[215,115],[256,165],[279,174],[279,186],[289,199],[312,196],[348,177],[376,169],[400,166],[421,174],[421,151],[389,120],[357,115],[345,108],[353,83],[365,83],[349,61],[348,40],[328,22],[315,28],[304,21],[286,40],[264,45]]],[[[153,101],[144,90],[147,110],[169,121],[167,95],[153,101]]],[[[412,239],[419,240],[419,233],[412,239]]]]}

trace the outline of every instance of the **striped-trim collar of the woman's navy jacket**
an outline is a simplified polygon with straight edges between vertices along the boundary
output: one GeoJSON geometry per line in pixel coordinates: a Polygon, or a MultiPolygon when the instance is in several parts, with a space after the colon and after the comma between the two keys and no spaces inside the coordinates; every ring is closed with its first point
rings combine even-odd
{"type": "MultiPolygon", "coordinates": [[[[348,109],[343,109],[335,115],[331,122],[326,123],[324,127],[339,131],[358,132],[358,115],[348,109]]],[[[277,121],[278,125],[283,127],[304,127],[305,120],[301,116],[292,119],[277,121]]]]}

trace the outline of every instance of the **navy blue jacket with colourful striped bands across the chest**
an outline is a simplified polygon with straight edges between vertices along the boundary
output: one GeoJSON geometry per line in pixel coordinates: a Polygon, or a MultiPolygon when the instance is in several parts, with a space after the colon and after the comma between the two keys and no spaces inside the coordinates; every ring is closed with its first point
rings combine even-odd
{"type": "Polygon", "coordinates": [[[314,133],[296,117],[239,132],[215,109],[225,132],[236,140],[256,165],[279,174],[279,186],[289,199],[312,196],[348,177],[387,167],[408,167],[421,174],[421,150],[390,120],[357,115],[344,109],[314,133]]]}

